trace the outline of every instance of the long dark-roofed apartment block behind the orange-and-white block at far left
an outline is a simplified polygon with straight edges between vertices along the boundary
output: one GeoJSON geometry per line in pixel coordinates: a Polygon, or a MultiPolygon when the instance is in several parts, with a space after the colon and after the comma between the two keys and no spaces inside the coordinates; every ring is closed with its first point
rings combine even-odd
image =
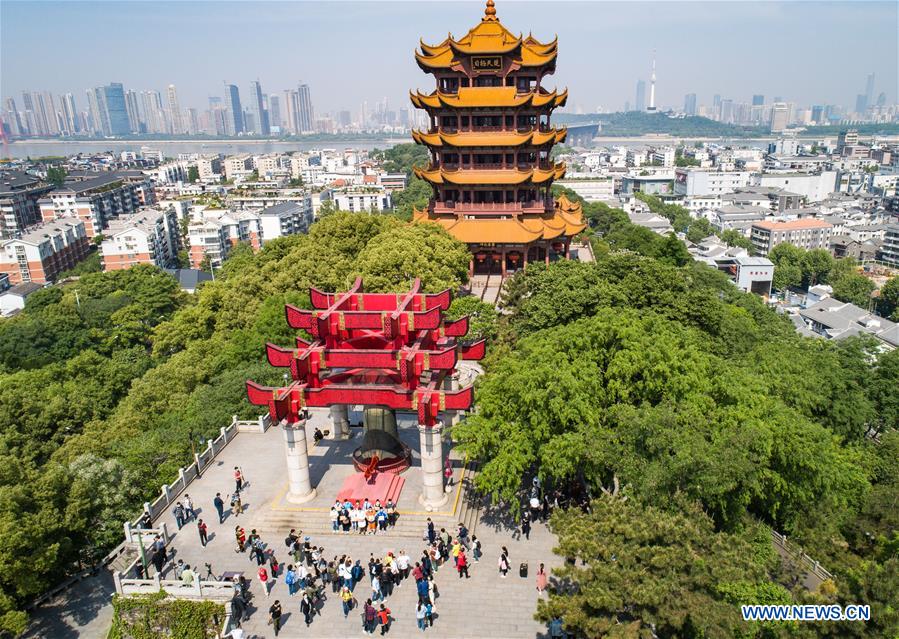
{"type": "Polygon", "coordinates": [[[63,218],[78,218],[84,222],[88,237],[103,232],[113,218],[134,213],[138,207],[155,201],[149,180],[122,176],[117,173],[90,177],[71,182],[50,191],[39,201],[45,222],[63,218]]]}

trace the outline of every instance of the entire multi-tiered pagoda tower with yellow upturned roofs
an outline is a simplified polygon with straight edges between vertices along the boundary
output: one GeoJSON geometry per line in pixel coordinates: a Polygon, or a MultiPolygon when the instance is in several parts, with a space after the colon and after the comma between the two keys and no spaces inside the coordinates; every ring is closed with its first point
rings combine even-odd
{"type": "Polygon", "coordinates": [[[415,53],[437,87],[410,94],[430,122],[412,132],[430,151],[429,165],[415,174],[433,188],[414,220],[437,222],[468,244],[472,274],[504,275],[525,262],[565,258],[571,238],[586,228],[580,205],[550,192],[565,174],[550,156],[566,130],[550,118],[568,92],[543,88],[556,54],[556,40],[544,44],[506,29],[493,0],[464,37],[422,42],[415,53]]]}

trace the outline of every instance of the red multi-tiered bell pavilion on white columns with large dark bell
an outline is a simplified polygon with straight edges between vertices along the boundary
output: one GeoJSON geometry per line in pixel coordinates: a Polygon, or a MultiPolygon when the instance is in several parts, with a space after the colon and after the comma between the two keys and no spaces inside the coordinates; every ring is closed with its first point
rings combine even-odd
{"type": "MultiPolygon", "coordinates": [[[[287,322],[312,339],[297,338],[295,348],[266,345],[268,361],[290,370],[282,388],[247,382],[250,403],[267,406],[283,425],[287,445],[288,499],[315,496],[309,478],[305,418],[307,407],[342,407],[335,438],[348,436],[346,408],[364,405],[365,432],[353,463],[371,483],[379,472],[408,468],[411,451],[398,437],[396,411],[417,413],[423,478],[421,501],[445,503],[440,413],[471,407],[472,388],[453,389],[459,359],[479,360],[485,342],[463,345],[468,318],[447,321],[448,290],[423,294],[415,280],[408,293],[363,293],[357,279],[345,293],[310,288],[312,309],[287,305],[287,322]]],[[[340,414],[340,410],[336,411],[340,414]]],[[[332,414],[334,411],[332,411],[332,414]]],[[[359,478],[357,478],[359,479],[359,478]]]]}

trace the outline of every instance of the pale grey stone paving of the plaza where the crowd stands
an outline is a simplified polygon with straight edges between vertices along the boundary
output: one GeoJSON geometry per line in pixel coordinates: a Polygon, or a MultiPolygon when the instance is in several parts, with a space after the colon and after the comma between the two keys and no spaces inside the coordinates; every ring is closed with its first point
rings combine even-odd
{"type": "MultiPolygon", "coordinates": [[[[309,432],[312,432],[314,425],[327,427],[326,419],[323,414],[313,416],[309,432]]],[[[355,422],[357,418],[351,416],[351,421],[355,422]]],[[[268,606],[275,599],[281,601],[285,613],[280,637],[346,637],[361,633],[359,613],[354,611],[349,619],[344,619],[340,603],[333,598],[330,589],[320,616],[315,618],[309,629],[305,627],[299,612],[299,599],[288,597],[287,587],[282,579],[275,582],[271,595],[266,598],[255,579],[257,570],[255,562],[251,563],[247,554],[235,552],[234,527],[239,523],[248,533],[251,528],[259,528],[263,540],[282,561],[288,559],[283,539],[290,528],[299,530],[305,528],[310,533],[313,544],[324,546],[325,556],[329,559],[335,555],[348,553],[354,558],[361,559],[363,564],[367,564],[371,553],[383,556],[388,551],[398,553],[400,550],[406,550],[413,559],[417,559],[421,556],[423,543],[414,531],[420,529],[424,532],[425,517],[428,513],[416,506],[421,485],[417,456],[418,433],[414,425],[407,425],[408,421],[401,420],[401,436],[407,443],[414,444],[413,450],[416,452],[413,467],[403,475],[406,478],[406,485],[400,498],[400,523],[394,532],[388,531],[372,537],[342,535],[330,533],[327,526],[322,525],[323,519],[327,517],[326,509],[333,502],[332,493],[336,492],[336,487],[340,484],[339,479],[350,472],[351,465],[347,451],[353,447],[352,441],[326,440],[312,449],[310,470],[313,483],[320,488],[319,495],[309,504],[285,509],[282,498],[286,488],[284,444],[280,430],[275,427],[264,434],[240,433],[222,451],[216,463],[188,487],[187,493],[199,511],[198,516],[209,526],[209,543],[203,548],[199,542],[195,523],[189,523],[173,535],[171,547],[175,559],[182,559],[192,567],[198,567],[201,574],[205,574],[204,566],[209,563],[216,575],[224,571],[243,571],[248,578],[252,577],[253,604],[258,609],[252,613],[250,620],[244,623],[244,628],[251,635],[274,636],[272,628],[267,626],[266,621],[268,606]],[[237,518],[229,514],[225,521],[219,524],[212,500],[216,492],[221,492],[224,497],[234,489],[232,475],[235,465],[242,467],[249,482],[243,493],[245,512],[237,518]],[[413,511],[412,508],[418,510],[413,511]],[[418,522],[417,525],[415,522],[418,522]],[[413,531],[412,536],[410,529],[413,531]]],[[[355,434],[355,442],[358,442],[361,430],[353,428],[352,431],[355,434]]],[[[461,473],[460,462],[457,462],[456,472],[458,478],[461,473]]],[[[454,496],[455,492],[451,497],[454,496]]],[[[445,510],[431,513],[438,529],[444,526],[448,531],[454,531],[461,508],[461,505],[457,504],[461,502],[461,499],[457,501],[454,497],[445,510]]],[[[170,512],[161,520],[167,523],[169,530],[176,530],[170,512]]],[[[158,522],[154,524],[158,525],[158,522]]],[[[386,602],[395,619],[389,636],[416,637],[419,634],[426,634],[458,639],[475,637],[512,639],[543,635],[545,626],[533,619],[538,597],[534,577],[540,562],[546,563],[547,571],[552,565],[558,564],[557,558],[552,554],[553,536],[545,526],[537,523],[533,527],[530,540],[513,539],[512,530],[505,519],[498,518],[491,512],[483,513],[475,534],[481,540],[484,557],[480,563],[472,564],[471,578],[460,580],[452,561],[437,574],[439,597],[434,627],[428,629],[426,633],[418,630],[415,621],[417,601],[415,586],[414,582],[409,582],[395,590],[386,602]],[[500,578],[497,570],[497,560],[503,545],[509,549],[510,563],[513,566],[513,570],[505,579],[500,578]],[[528,564],[527,578],[518,576],[518,566],[522,562],[528,564]]],[[[85,582],[88,583],[90,582],[85,582]]],[[[368,584],[366,576],[357,587],[357,598],[361,601],[370,595],[368,584]]],[[[70,593],[68,598],[60,600],[60,605],[42,610],[40,625],[36,626],[37,630],[33,630],[30,636],[104,636],[93,627],[78,625],[72,626],[69,634],[40,630],[60,628],[63,619],[73,616],[73,611],[67,610],[65,604],[68,601],[70,607],[78,606],[79,599],[74,596],[75,591],[70,593]]],[[[96,626],[106,624],[103,628],[105,633],[111,612],[110,606],[104,607],[100,602],[108,596],[108,587],[103,589],[98,587],[90,594],[96,603],[87,614],[93,615],[96,626]]],[[[77,616],[82,613],[74,614],[77,616]]]]}

